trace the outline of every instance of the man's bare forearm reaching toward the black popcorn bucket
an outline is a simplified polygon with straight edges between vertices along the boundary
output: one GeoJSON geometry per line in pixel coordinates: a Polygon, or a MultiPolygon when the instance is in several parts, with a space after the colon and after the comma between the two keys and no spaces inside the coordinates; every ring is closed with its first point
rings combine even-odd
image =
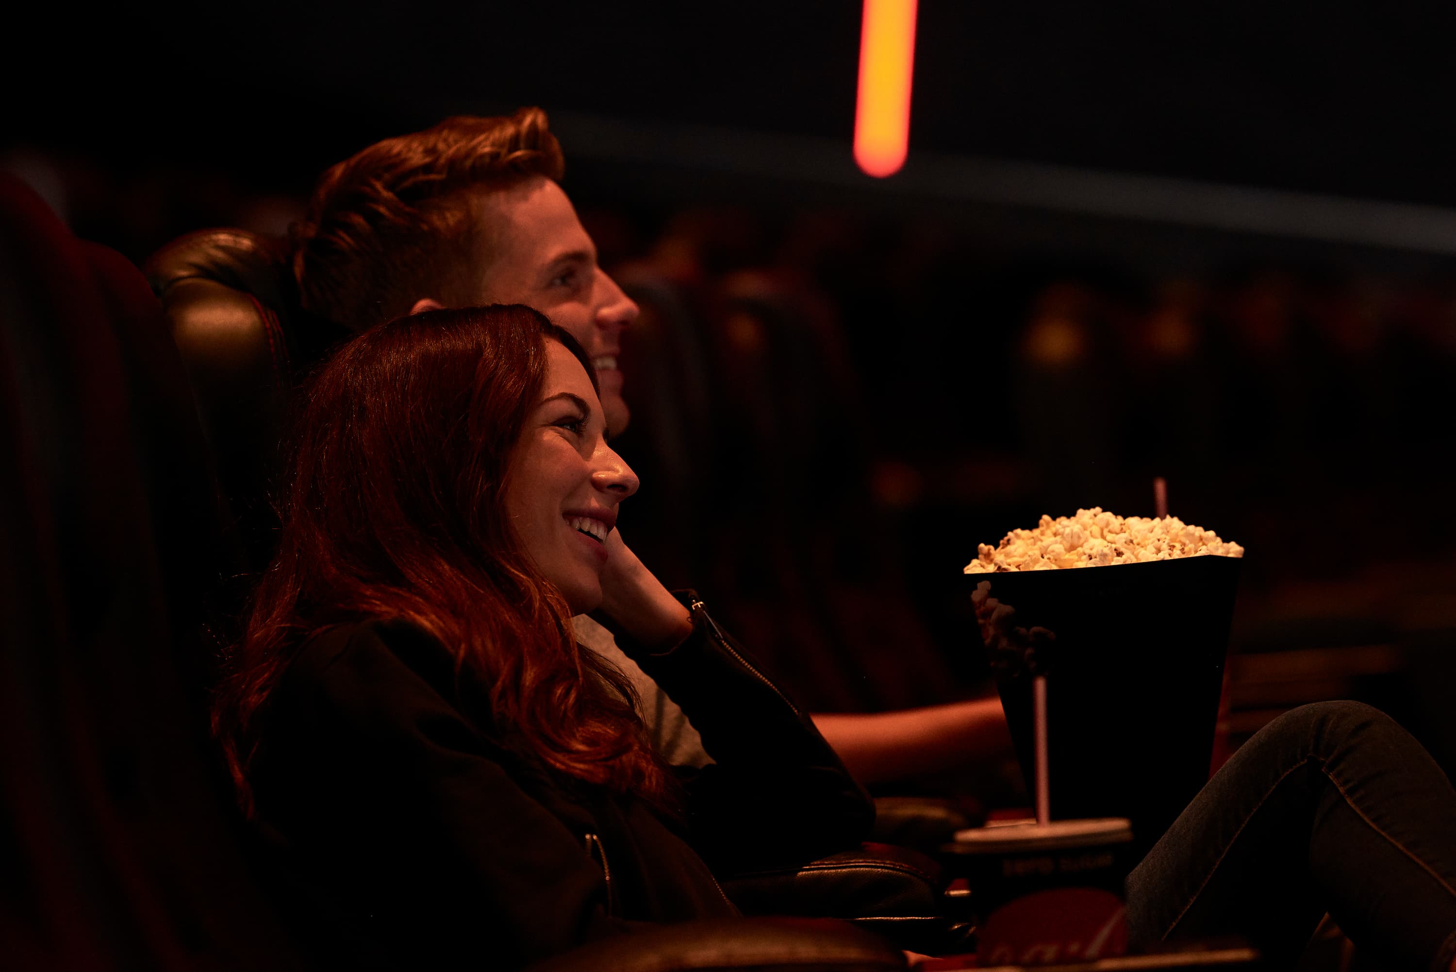
{"type": "Polygon", "coordinates": [[[820,734],[863,784],[960,769],[1012,750],[1000,698],[895,713],[812,716],[820,734]]]}

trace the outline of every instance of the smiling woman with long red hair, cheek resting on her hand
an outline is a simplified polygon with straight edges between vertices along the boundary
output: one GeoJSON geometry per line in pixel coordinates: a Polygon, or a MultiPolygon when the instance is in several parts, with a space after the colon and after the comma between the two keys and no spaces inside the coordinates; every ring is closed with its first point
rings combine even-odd
{"type": "Polygon", "coordinates": [[[735,914],[703,863],[810,860],[874,818],[807,716],[613,529],[636,478],[575,341],[518,306],[376,328],[298,415],[280,552],[215,708],[294,883],[400,965],[514,968],[735,914]],[[716,759],[667,775],[598,611],[716,759]]]}

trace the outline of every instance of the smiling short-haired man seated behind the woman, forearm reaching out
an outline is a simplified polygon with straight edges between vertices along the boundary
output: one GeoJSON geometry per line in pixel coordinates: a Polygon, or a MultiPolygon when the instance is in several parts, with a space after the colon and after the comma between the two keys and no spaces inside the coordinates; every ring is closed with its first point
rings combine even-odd
{"type": "MultiPolygon", "coordinates": [[[[607,427],[620,433],[629,415],[617,356],[638,307],[597,265],[561,189],[562,169],[537,108],[450,118],[364,149],[325,172],[296,227],[293,270],[304,309],[363,331],[432,307],[527,305],[581,341],[597,369],[607,427]]],[[[664,758],[705,762],[686,717],[612,635],[590,618],[578,618],[577,631],[633,678],[664,758]]],[[[865,783],[1009,749],[996,699],[814,721],[865,783]]]]}

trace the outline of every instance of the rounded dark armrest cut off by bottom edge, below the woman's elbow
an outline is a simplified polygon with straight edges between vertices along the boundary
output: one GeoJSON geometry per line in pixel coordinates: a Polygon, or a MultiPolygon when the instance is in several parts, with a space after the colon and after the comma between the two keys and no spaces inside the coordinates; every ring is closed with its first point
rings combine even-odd
{"type": "Polygon", "coordinates": [[[725,918],[614,936],[529,972],[897,972],[903,952],[842,921],[725,918]]]}

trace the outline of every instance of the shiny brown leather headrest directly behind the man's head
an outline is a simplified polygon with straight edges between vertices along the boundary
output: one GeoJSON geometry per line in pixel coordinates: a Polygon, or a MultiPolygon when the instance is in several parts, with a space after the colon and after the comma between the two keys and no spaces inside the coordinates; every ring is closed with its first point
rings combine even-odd
{"type": "Polygon", "coordinates": [[[240,535],[245,568],[256,573],[278,526],[269,494],[288,398],[349,332],[304,313],[281,242],[245,230],[183,236],[144,273],[186,366],[224,516],[240,535]]]}

